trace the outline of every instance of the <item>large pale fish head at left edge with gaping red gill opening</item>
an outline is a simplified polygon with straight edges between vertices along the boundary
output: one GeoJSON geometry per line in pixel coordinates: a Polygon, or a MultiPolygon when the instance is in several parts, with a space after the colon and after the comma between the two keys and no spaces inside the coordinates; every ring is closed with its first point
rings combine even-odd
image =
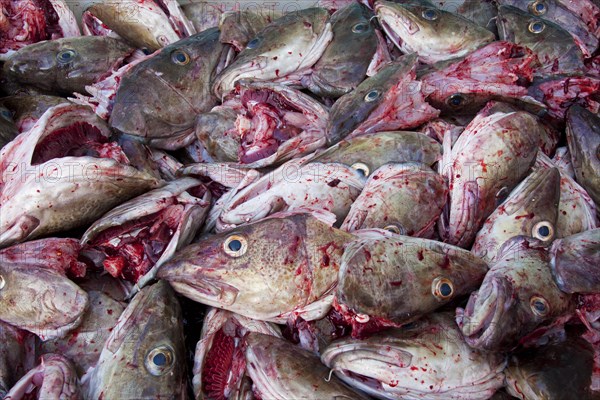
{"type": "Polygon", "coordinates": [[[88,107],[62,104],[49,108],[31,130],[2,149],[0,246],[85,225],[160,184],[128,165],[122,150],[108,143],[110,133],[88,107]],[[56,134],[69,137],[65,147],[45,140],[56,134]],[[87,145],[77,140],[93,136],[106,142],[94,143],[99,153],[94,148],[89,156],[70,155],[71,146],[77,151],[77,145],[87,145]]]}

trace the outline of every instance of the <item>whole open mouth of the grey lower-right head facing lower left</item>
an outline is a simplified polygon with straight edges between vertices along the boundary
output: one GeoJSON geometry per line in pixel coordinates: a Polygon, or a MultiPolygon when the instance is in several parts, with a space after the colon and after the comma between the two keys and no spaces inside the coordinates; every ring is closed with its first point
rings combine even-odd
{"type": "Polygon", "coordinates": [[[510,293],[507,282],[492,279],[489,285],[471,295],[464,310],[458,309],[456,319],[469,345],[485,344],[498,334],[510,293]]]}

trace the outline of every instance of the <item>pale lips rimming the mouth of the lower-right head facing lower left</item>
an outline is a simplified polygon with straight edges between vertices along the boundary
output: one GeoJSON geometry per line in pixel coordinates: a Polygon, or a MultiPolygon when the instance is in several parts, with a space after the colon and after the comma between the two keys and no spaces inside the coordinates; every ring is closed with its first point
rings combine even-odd
{"type": "Polygon", "coordinates": [[[498,321],[506,308],[504,303],[510,298],[509,288],[510,286],[508,283],[499,282],[497,279],[493,279],[491,281],[490,293],[479,292],[473,294],[471,299],[469,299],[467,307],[459,312],[457,322],[459,322],[465,340],[470,346],[476,347],[493,340],[495,332],[497,331],[498,321]],[[477,300],[482,295],[485,295],[485,301],[488,301],[490,298],[492,301],[489,301],[488,305],[485,307],[485,310],[483,311],[484,317],[480,319],[479,323],[475,326],[471,326],[470,323],[474,315],[476,303],[478,302],[477,300]],[[462,313],[462,315],[460,313],[462,313]],[[465,320],[467,321],[466,324],[465,320]]]}

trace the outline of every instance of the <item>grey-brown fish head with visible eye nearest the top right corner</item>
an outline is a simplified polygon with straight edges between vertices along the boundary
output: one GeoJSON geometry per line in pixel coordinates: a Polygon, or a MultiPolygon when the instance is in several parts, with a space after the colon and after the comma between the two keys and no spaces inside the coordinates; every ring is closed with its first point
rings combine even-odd
{"type": "Polygon", "coordinates": [[[569,32],[512,6],[498,7],[500,39],[529,47],[540,61],[539,75],[585,71],[583,53],[569,32]]]}

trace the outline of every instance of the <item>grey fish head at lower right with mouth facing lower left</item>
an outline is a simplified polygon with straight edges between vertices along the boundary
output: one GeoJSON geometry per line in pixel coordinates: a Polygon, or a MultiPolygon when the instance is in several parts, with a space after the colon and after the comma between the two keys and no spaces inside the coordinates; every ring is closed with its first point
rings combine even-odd
{"type": "Polygon", "coordinates": [[[467,306],[457,308],[456,322],[471,347],[505,351],[574,306],[574,297],[554,281],[547,249],[535,239],[516,236],[502,246],[467,306]]]}

